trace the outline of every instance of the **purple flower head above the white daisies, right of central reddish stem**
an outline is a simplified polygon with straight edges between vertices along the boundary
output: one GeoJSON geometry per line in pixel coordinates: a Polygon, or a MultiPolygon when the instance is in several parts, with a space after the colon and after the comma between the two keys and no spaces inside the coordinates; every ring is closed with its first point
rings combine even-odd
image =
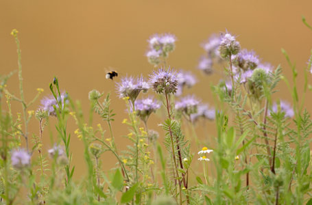
{"type": "Polygon", "coordinates": [[[200,101],[194,96],[186,96],[180,101],[176,102],[176,110],[184,112],[186,115],[191,115],[197,112],[197,106],[200,101]]]}

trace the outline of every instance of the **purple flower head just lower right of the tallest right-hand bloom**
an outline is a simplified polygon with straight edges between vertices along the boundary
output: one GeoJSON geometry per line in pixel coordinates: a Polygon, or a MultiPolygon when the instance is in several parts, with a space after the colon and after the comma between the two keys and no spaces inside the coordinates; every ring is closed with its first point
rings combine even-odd
{"type": "Polygon", "coordinates": [[[243,70],[254,70],[259,65],[259,57],[256,55],[254,51],[248,51],[247,49],[243,49],[237,55],[237,65],[243,70]]]}

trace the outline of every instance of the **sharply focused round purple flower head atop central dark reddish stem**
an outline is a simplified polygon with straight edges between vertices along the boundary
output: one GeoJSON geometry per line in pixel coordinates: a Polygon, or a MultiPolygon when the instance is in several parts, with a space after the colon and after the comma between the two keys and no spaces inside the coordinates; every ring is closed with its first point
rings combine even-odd
{"type": "Polygon", "coordinates": [[[153,71],[149,75],[149,83],[158,94],[175,94],[178,87],[176,71],[163,70],[163,68],[153,71]]]}

